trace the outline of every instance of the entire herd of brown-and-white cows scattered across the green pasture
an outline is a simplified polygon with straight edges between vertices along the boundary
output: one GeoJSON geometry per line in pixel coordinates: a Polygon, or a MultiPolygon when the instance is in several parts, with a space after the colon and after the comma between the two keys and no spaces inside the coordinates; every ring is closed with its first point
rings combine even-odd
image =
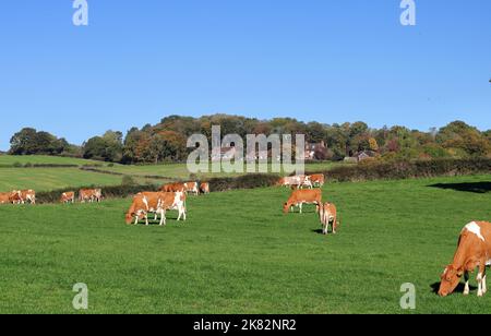
{"type": "MultiPolygon", "coordinates": [[[[316,207],[322,232],[336,233],[339,225],[337,209],[333,203],[323,203],[321,188],[325,183],[323,175],[285,177],[278,181],[278,187],[291,188],[290,197],[284,204],[284,212],[292,212],[295,207],[300,209],[304,204],[313,204],[316,207]]],[[[187,219],[187,196],[189,194],[208,194],[209,183],[184,182],[169,183],[160,188],[158,192],[140,192],[134,195],[132,204],[125,214],[128,225],[137,225],[141,220],[148,224],[148,215],[155,215],[155,221],[159,220],[160,226],[166,225],[166,212],[178,211],[177,220],[187,219]]],[[[81,203],[101,202],[103,191],[100,189],[82,189],[79,191],[81,203]]],[[[75,192],[63,192],[60,203],[75,203],[75,192]]],[[[36,192],[34,190],[14,190],[0,193],[1,204],[36,204],[36,192]]],[[[446,297],[455,291],[460,279],[465,279],[464,295],[469,295],[469,274],[478,268],[478,297],[482,297],[487,291],[487,266],[491,266],[491,223],[471,221],[464,227],[458,239],[457,251],[453,263],[448,265],[442,276],[439,295],[446,297]]]]}

